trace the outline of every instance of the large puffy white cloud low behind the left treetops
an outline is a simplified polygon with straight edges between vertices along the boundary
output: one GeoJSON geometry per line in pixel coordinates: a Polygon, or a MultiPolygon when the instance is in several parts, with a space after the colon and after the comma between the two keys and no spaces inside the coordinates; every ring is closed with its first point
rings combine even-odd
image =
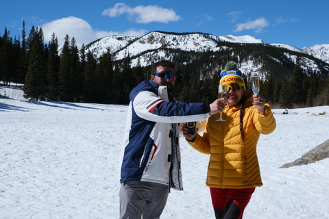
{"type": "Polygon", "coordinates": [[[55,33],[58,38],[58,44],[62,46],[64,44],[64,38],[67,34],[70,40],[73,37],[75,38],[77,47],[79,49],[82,47],[82,44],[86,46],[86,44],[89,44],[90,42],[93,42],[99,38],[103,38],[104,36],[143,36],[147,33],[145,29],[129,29],[122,33],[115,31],[99,31],[93,29],[88,22],[75,16],[60,18],[56,21],[45,23],[41,25],[41,27],[45,36],[46,43],[51,40],[51,35],[55,33]]]}

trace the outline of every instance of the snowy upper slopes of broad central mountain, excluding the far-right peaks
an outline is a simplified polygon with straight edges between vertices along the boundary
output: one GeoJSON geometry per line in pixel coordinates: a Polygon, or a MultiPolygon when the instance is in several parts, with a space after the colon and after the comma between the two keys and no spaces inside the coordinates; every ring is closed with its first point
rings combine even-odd
{"type": "MultiPolygon", "coordinates": [[[[262,44],[262,40],[258,40],[253,36],[213,36],[211,34],[202,33],[165,33],[161,31],[153,31],[141,38],[127,36],[106,36],[86,46],[86,51],[90,50],[95,57],[99,57],[107,48],[110,48],[114,54],[115,60],[123,59],[127,53],[131,57],[141,55],[141,65],[145,66],[151,63],[151,59],[155,54],[164,55],[161,49],[177,49],[180,51],[194,51],[197,53],[210,51],[220,51],[227,49],[218,47],[218,42],[232,43],[256,43],[262,44]]],[[[132,65],[137,60],[132,59],[132,65]]]]}

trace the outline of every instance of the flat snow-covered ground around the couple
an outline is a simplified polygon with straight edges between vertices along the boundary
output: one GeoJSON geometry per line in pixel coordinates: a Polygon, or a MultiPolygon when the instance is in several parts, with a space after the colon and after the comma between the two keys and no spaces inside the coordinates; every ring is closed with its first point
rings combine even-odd
{"type": "MultiPolygon", "coordinates": [[[[279,168],[328,140],[329,106],[283,111],[258,142],[264,186],[244,218],[329,218],[329,159],[279,168]]],[[[0,218],[119,218],[126,114],[126,105],[0,99],[0,218]]],[[[215,218],[209,156],[180,142],[184,191],[171,190],[162,218],[215,218]]]]}

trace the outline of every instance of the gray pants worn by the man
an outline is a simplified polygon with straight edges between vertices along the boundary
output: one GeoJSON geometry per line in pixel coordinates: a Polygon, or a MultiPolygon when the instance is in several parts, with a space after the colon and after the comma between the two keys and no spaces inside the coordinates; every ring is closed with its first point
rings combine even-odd
{"type": "Polygon", "coordinates": [[[120,219],[160,218],[168,194],[169,185],[144,181],[121,182],[120,219]]]}

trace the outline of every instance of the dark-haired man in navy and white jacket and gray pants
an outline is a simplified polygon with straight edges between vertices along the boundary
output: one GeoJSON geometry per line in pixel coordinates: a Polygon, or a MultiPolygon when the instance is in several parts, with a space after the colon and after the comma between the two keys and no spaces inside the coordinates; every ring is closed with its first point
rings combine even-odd
{"type": "Polygon", "coordinates": [[[178,124],[206,120],[222,112],[217,99],[179,103],[171,94],[175,64],[153,64],[151,79],[130,92],[121,149],[120,218],[160,218],[169,188],[183,190],[178,124]]]}

